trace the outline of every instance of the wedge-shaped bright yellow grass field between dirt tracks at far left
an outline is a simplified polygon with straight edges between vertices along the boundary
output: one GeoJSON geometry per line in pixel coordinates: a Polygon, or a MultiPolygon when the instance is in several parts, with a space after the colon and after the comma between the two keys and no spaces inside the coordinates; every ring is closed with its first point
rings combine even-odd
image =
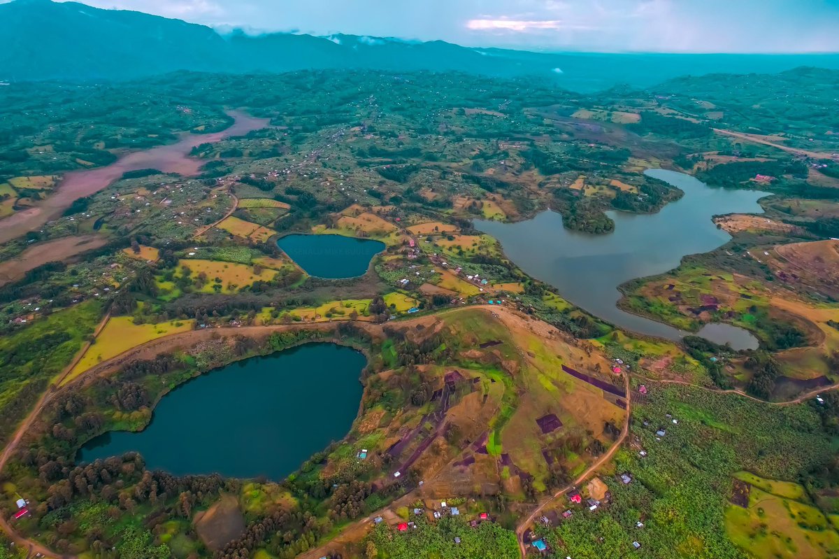
{"type": "Polygon", "coordinates": [[[65,384],[84,373],[96,363],[116,357],[132,347],[164,336],[187,332],[192,329],[195,320],[161,322],[160,324],[134,324],[131,316],[114,316],[107,322],[96,342],[76,363],[76,367],[67,375],[65,384]]]}

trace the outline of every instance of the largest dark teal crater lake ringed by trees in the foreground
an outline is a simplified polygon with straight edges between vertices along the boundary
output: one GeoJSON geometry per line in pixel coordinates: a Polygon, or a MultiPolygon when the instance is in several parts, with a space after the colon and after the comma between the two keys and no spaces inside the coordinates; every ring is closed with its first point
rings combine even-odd
{"type": "Polygon", "coordinates": [[[362,353],[309,343],[218,368],[166,394],[143,431],[112,431],[78,459],[140,452],[150,469],[280,480],[347,435],[362,397],[362,353]]]}

